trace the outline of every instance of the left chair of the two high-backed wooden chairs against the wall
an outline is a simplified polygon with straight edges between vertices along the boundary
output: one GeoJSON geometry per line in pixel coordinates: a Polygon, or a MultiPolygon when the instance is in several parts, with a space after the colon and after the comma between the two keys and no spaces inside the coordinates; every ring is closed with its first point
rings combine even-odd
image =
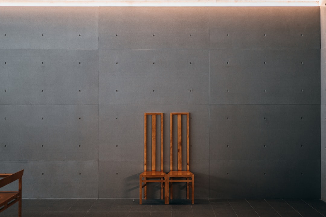
{"type": "Polygon", "coordinates": [[[139,204],[142,203],[142,188],[144,188],[144,199],[147,199],[147,183],[161,183],[161,199],[165,195],[165,204],[169,203],[169,188],[167,174],[163,171],[163,113],[145,113],[144,115],[144,172],[139,175],[139,204]],[[147,115],[152,116],[152,153],[151,170],[147,171],[147,115]],[[160,135],[160,169],[156,170],[156,115],[161,115],[160,135]],[[144,184],[143,184],[144,183],[144,184]],[[165,191],[163,191],[165,189],[165,191]]]}

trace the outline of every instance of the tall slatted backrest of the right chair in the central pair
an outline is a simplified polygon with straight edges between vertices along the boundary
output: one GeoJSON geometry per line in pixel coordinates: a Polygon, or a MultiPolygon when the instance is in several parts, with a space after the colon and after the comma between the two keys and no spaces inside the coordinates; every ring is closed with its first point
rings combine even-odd
{"type": "MultiPolygon", "coordinates": [[[[187,171],[189,171],[189,112],[174,112],[170,113],[170,170],[173,170],[173,115],[177,115],[177,156],[178,156],[178,171],[182,170],[182,115],[186,115],[186,152],[187,152],[187,171]]],[[[184,137],[185,138],[185,137],[184,137]]]]}

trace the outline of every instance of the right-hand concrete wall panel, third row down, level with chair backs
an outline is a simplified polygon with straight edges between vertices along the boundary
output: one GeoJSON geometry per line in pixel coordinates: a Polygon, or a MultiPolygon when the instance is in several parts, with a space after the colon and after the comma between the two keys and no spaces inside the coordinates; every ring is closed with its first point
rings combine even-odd
{"type": "Polygon", "coordinates": [[[319,105],[211,105],[210,159],[317,160],[319,105]]]}

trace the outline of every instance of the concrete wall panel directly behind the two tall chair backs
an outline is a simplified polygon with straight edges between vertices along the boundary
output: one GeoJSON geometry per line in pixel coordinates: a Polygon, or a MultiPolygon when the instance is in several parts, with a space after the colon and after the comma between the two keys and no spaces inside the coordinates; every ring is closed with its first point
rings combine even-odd
{"type": "MultiPolygon", "coordinates": [[[[144,159],[144,113],[163,112],[164,159],[170,159],[170,112],[190,112],[190,159],[209,157],[206,105],[101,105],[99,107],[99,159],[144,159]]],[[[169,166],[165,169],[169,171],[169,166]]]]}

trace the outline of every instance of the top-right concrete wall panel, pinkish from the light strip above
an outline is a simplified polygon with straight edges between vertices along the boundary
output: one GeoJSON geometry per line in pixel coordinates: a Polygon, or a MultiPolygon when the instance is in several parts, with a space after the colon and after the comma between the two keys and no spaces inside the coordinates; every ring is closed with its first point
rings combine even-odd
{"type": "Polygon", "coordinates": [[[319,7],[210,7],[211,49],[320,47],[319,7]]]}

